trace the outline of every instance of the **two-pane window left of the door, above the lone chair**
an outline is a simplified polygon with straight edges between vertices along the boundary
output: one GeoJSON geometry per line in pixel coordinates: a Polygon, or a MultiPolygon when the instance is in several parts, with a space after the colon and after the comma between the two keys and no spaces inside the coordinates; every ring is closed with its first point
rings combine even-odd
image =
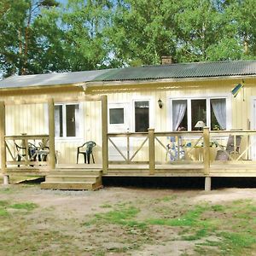
{"type": "Polygon", "coordinates": [[[79,104],[55,105],[55,137],[79,136],[79,104]]]}

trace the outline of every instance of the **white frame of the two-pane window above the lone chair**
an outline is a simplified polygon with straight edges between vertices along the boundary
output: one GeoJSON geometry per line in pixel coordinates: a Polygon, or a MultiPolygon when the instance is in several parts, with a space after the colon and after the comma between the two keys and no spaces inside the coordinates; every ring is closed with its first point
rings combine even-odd
{"type": "Polygon", "coordinates": [[[83,105],[80,102],[58,102],[55,103],[55,106],[62,106],[62,121],[63,121],[63,136],[62,137],[56,137],[56,140],[59,141],[76,141],[81,140],[83,138],[82,131],[84,130],[84,118],[83,118],[83,105]],[[76,123],[79,123],[79,130],[78,134],[75,137],[67,137],[67,123],[66,123],[66,106],[67,105],[79,105],[79,118],[76,119],[76,123]]]}

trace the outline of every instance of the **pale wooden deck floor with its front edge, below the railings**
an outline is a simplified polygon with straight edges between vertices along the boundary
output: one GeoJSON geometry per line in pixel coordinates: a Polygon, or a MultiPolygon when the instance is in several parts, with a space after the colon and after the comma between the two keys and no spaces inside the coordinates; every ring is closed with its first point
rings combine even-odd
{"type": "MultiPolygon", "coordinates": [[[[55,170],[102,170],[101,164],[70,164],[56,165],[55,170]]],[[[49,174],[47,167],[25,167],[7,168],[9,175],[28,175],[28,176],[47,176],[49,174]]],[[[213,163],[210,166],[209,175],[204,174],[204,166],[197,164],[165,164],[156,165],[154,174],[148,171],[148,165],[109,165],[108,173],[102,174],[102,177],[256,177],[256,163],[241,164],[236,163],[213,163]]]]}

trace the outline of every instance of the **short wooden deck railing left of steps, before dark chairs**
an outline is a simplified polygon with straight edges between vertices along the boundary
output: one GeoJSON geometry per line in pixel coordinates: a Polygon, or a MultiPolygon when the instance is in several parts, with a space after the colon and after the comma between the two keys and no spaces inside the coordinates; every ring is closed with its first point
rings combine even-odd
{"type": "Polygon", "coordinates": [[[49,166],[49,135],[5,136],[6,166],[49,166]]]}

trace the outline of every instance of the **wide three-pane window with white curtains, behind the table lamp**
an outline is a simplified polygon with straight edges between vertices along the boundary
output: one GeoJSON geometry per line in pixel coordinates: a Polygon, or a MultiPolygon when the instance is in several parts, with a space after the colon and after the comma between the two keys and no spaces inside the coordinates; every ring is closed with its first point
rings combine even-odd
{"type": "Polygon", "coordinates": [[[173,131],[195,131],[198,121],[203,121],[211,130],[225,130],[226,119],[225,98],[172,100],[173,131]]]}

